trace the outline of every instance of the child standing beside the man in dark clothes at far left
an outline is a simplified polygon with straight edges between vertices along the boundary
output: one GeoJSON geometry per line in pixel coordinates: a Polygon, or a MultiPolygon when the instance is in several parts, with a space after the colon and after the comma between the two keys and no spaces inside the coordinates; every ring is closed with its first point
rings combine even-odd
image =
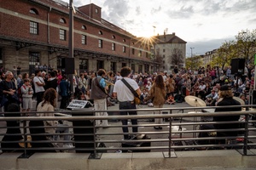
{"type": "Polygon", "coordinates": [[[33,89],[28,78],[24,79],[24,84],[20,87],[22,94],[22,111],[31,111],[33,89]]]}

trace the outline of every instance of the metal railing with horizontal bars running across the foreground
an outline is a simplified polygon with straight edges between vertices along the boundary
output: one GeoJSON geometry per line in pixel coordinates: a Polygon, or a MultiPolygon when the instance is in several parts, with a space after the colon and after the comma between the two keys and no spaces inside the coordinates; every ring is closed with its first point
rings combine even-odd
{"type": "MultiPolygon", "coordinates": [[[[242,105],[244,108],[250,108],[255,105],[242,105]]],[[[230,106],[224,106],[230,107],[230,106]]],[[[236,107],[236,106],[232,106],[236,107]]],[[[239,106],[241,107],[241,106],[239,106]]],[[[206,109],[215,109],[219,107],[181,107],[181,108],[161,108],[161,109],[137,109],[122,111],[137,111],[137,116],[95,116],[96,112],[92,109],[81,109],[74,111],[55,111],[55,116],[35,116],[39,112],[29,112],[30,116],[11,116],[17,114],[13,112],[3,113],[0,117],[3,126],[0,127],[0,138],[5,136],[21,135],[21,140],[2,140],[1,145],[19,144],[20,147],[1,147],[0,150],[18,151],[20,157],[29,157],[35,152],[88,152],[92,159],[100,159],[103,152],[137,152],[137,151],[162,151],[165,157],[177,157],[177,150],[223,150],[236,149],[243,156],[255,155],[250,149],[255,148],[256,143],[256,121],[250,120],[256,111],[236,111],[236,112],[201,112],[206,109]],[[154,115],[153,111],[167,112],[168,114],[154,115]],[[175,112],[175,113],[174,113],[175,112]],[[232,122],[212,122],[207,121],[206,117],[212,116],[241,116],[241,121],[232,122]],[[166,120],[163,124],[151,122],[154,118],[166,120]],[[127,127],[138,127],[138,133],[132,133],[131,139],[123,139],[122,125],[119,120],[137,119],[138,124],[129,124],[127,127]],[[96,126],[96,120],[108,120],[111,125],[108,128],[96,126]],[[45,133],[44,121],[67,121],[67,127],[70,133],[45,133]],[[5,126],[3,122],[20,122],[18,127],[5,126]],[[33,123],[32,123],[33,122],[33,123]],[[41,124],[40,124],[41,123],[41,124]],[[43,123],[43,124],[42,124],[43,123]],[[218,124],[237,124],[237,128],[230,129],[202,129],[204,125],[218,124]],[[163,127],[162,130],[152,130],[153,127],[163,127]],[[8,133],[5,129],[20,129],[21,133],[8,133]],[[237,132],[236,136],[229,136],[228,133],[237,132]],[[199,133],[207,136],[199,138],[199,133]],[[61,139],[51,140],[53,135],[61,135],[61,139]],[[222,135],[216,135],[222,134],[222,135]],[[64,140],[63,136],[71,135],[73,138],[64,140]],[[38,138],[37,138],[38,137],[38,138]],[[44,137],[44,138],[41,138],[44,137]],[[204,144],[201,144],[202,141],[204,144]],[[64,144],[72,143],[74,148],[62,147],[64,144]]],[[[119,110],[107,111],[118,113],[119,110]]],[[[18,123],[19,124],[19,123],[18,123]]],[[[57,128],[58,126],[55,126],[57,128]]]]}

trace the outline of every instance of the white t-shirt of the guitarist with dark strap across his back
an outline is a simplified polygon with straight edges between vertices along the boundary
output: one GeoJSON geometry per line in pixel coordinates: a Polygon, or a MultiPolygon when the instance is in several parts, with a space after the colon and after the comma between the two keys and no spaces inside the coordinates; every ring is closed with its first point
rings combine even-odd
{"type": "MultiPolygon", "coordinates": [[[[131,85],[131,88],[133,88],[135,91],[139,88],[137,82],[135,82],[133,79],[125,77],[125,81],[128,82],[131,85]]],[[[127,88],[125,83],[121,80],[115,82],[113,86],[113,93],[117,93],[117,98],[120,102],[134,100],[134,95],[131,93],[131,90],[127,88]]]]}

